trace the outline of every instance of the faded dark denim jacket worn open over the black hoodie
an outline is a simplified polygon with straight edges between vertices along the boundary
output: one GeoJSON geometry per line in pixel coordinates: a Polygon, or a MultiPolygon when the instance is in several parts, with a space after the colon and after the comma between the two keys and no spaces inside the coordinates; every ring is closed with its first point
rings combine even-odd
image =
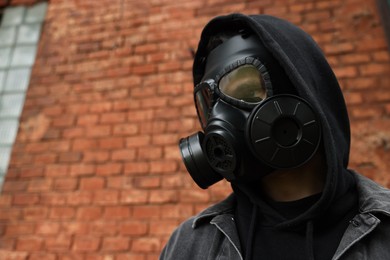
{"type": "MultiPolygon", "coordinates": [[[[359,213],[350,221],[332,260],[390,259],[390,190],[359,174],[359,213]]],[[[160,260],[243,259],[234,222],[234,194],[182,223],[160,260]]]]}

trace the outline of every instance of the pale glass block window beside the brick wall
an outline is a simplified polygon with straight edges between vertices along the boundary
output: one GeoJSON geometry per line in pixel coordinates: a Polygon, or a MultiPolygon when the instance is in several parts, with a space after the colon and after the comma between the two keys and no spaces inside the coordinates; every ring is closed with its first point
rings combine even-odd
{"type": "Polygon", "coordinates": [[[35,62],[47,3],[9,6],[0,16],[0,190],[35,62]]]}

